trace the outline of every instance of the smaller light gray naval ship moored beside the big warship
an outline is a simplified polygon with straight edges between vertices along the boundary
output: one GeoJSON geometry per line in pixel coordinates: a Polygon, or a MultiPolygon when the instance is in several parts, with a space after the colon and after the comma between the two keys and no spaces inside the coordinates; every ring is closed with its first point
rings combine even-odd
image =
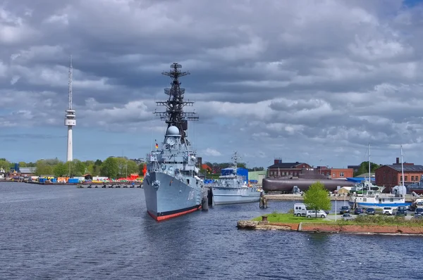
{"type": "Polygon", "coordinates": [[[210,186],[213,204],[247,203],[260,200],[260,189],[248,186],[246,178],[238,175],[238,155],[232,156],[233,167],[228,174],[221,175],[217,182],[210,186]]]}

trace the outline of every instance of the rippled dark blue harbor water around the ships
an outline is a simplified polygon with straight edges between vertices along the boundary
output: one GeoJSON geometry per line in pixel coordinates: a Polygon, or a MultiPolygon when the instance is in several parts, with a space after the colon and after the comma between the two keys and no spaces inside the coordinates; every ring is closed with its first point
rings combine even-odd
{"type": "Polygon", "coordinates": [[[0,182],[0,279],[423,279],[421,236],[236,228],[293,204],[156,222],[142,189],[0,182]]]}

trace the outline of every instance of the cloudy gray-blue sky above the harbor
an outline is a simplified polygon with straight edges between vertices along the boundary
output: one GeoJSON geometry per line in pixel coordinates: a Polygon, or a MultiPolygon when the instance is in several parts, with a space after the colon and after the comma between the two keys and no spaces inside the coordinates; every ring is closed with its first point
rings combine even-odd
{"type": "Polygon", "coordinates": [[[177,62],[203,162],[423,164],[422,1],[19,0],[0,4],[0,158],[145,158],[177,62]]]}

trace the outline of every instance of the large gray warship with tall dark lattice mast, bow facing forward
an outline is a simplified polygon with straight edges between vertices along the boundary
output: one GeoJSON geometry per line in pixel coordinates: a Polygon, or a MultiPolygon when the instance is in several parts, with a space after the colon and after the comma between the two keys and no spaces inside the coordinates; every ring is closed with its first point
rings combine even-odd
{"type": "Polygon", "coordinates": [[[171,88],[164,89],[167,101],[156,102],[166,111],[157,112],[167,124],[164,141],[152,151],[147,161],[144,193],[147,212],[157,221],[185,215],[202,208],[204,184],[197,175],[196,152],[188,141],[188,120],[198,120],[194,112],[185,113],[183,107],[194,102],[183,101],[185,89],[180,88],[179,78],[190,72],[180,71],[178,63],[162,75],[171,77],[171,88]]]}

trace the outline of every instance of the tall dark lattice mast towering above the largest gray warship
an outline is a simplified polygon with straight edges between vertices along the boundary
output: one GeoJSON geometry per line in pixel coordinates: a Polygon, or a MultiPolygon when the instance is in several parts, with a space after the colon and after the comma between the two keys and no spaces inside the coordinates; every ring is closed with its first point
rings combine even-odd
{"type": "Polygon", "coordinates": [[[154,112],[154,114],[159,115],[161,120],[164,120],[168,127],[175,126],[178,127],[180,133],[180,143],[190,144],[187,137],[188,130],[188,120],[198,120],[198,117],[195,117],[195,112],[184,112],[183,107],[193,106],[194,102],[192,101],[183,101],[183,94],[185,94],[185,89],[180,87],[179,78],[190,75],[190,72],[181,72],[180,68],[182,66],[178,63],[172,63],[171,70],[168,72],[162,72],[162,75],[171,77],[171,88],[164,89],[164,93],[169,96],[167,101],[157,101],[157,106],[165,106],[165,112],[154,112]]]}

